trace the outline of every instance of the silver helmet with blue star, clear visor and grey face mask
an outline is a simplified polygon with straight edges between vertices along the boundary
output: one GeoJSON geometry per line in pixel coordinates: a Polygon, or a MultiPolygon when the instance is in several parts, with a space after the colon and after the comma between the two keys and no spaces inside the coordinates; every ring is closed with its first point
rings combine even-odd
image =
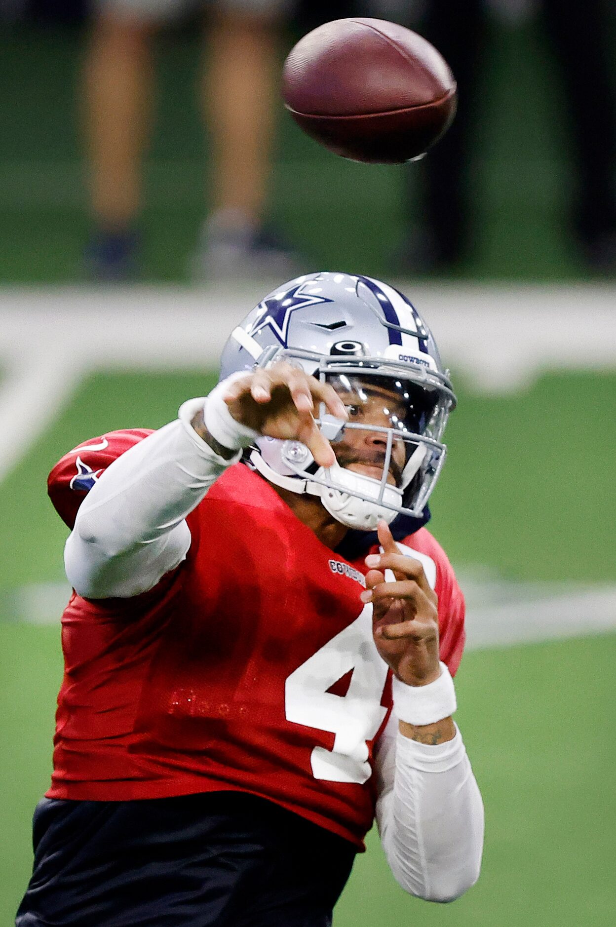
{"type": "Polygon", "coordinates": [[[456,397],[409,299],[371,277],[296,277],[233,330],[220,379],[278,361],[330,383],[345,403],[347,422],[324,406],[317,419],[336,464],[320,467],[304,444],[278,438],[258,438],[247,463],[277,486],[319,496],[347,527],[421,517],[445,463],[441,438],[456,397]]]}

